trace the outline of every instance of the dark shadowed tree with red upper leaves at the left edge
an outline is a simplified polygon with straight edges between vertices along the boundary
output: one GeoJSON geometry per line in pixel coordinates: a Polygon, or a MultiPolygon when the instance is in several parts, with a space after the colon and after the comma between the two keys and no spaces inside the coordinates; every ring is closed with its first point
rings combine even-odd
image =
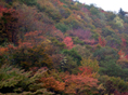
{"type": "Polygon", "coordinates": [[[18,33],[18,14],[13,9],[7,9],[0,6],[0,42],[5,42],[3,38],[8,39],[8,42],[13,42],[17,44],[17,33],[18,33]]]}

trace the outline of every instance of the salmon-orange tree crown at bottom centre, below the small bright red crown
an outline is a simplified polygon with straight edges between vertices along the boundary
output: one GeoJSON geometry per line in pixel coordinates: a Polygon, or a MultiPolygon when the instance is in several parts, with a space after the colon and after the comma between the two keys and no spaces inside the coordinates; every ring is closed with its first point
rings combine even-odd
{"type": "Polygon", "coordinates": [[[67,74],[64,78],[66,89],[65,93],[73,93],[73,94],[79,94],[80,92],[85,91],[86,92],[90,91],[91,87],[97,87],[98,80],[90,78],[88,76],[84,74],[67,74]]]}

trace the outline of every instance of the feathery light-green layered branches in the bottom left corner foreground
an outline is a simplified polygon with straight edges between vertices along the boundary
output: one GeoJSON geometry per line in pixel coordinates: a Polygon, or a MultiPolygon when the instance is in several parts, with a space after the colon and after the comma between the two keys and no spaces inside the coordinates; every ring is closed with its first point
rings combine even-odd
{"type": "Polygon", "coordinates": [[[22,95],[34,95],[34,93],[46,93],[41,87],[41,83],[37,81],[43,76],[46,70],[38,69],[38,71],[33,74],[30,71],[25,72],[13,66],[3,65],[0,68],[0,92],[1,93],[23,93],[22,95]],[[26,92],[26,93],[25,93],[26,92]]]}

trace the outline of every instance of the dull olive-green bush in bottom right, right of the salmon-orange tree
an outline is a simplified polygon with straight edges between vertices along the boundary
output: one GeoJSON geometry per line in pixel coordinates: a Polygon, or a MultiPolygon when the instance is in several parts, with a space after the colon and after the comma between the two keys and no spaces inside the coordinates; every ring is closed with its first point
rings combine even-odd
{"type": "Polygon", "coordinates": [[[105,87],[104,94],[113,94],[115,90],[119,92],[128,91],[128,83],[120,78],[101,76],[99,80],[105,87]]]}

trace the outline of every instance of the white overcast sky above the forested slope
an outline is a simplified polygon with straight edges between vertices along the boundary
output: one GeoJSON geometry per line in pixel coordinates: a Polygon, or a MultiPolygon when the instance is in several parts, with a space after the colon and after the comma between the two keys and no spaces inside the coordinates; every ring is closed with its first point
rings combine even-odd
{"type": "Polygon", "coordinates": [[[95,6],[103,9],[104,11],[116,11],[121,8],[128,12],[128,0],[78,0],[79,2],[90,4],[94,3],[95,6]]]}

